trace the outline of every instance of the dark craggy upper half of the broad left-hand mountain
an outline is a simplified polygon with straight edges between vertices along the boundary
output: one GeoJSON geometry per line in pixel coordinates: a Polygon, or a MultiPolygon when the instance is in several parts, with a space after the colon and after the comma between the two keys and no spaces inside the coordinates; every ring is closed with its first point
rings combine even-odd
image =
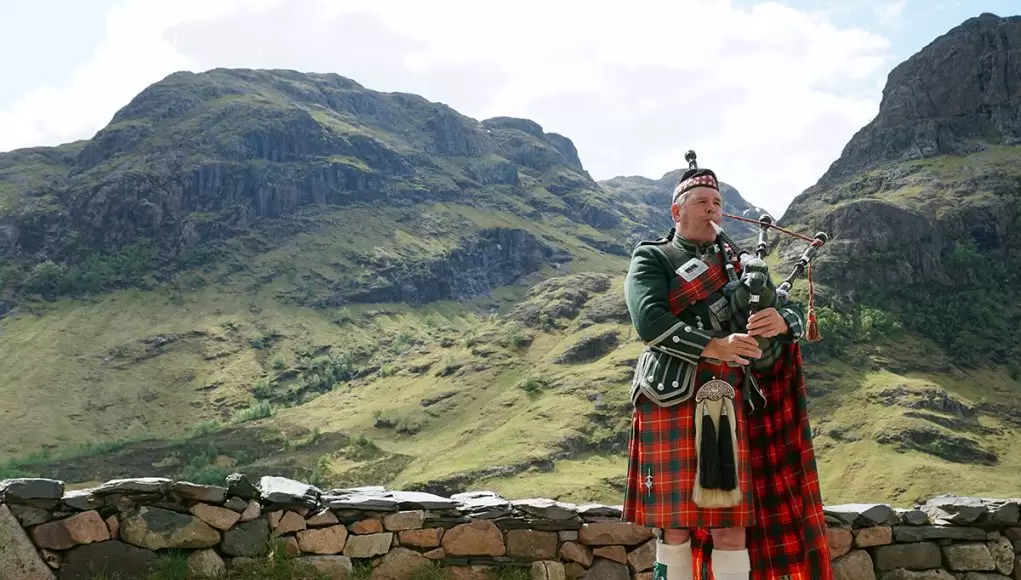
{"type": "Polygon", "coordinates": [[[566,220],[582,246],[618,255],[646,231],[640,212],[591,179],[570,139],[534,122],[480,123],[337,75],[179,72],[87,142],[0,154],[0,258],[13,264],[0,292],[101,290],[223,258],[244,236],[268,249],[269,238],[307,230],[315,208],[438,203],[477,218],[448,228],[454,239],[428,259],[352,257],[375,274],[334,283],[327,301],[461,298],[572,258],[563,240],[487,224],[487,212],[566,220]]]}

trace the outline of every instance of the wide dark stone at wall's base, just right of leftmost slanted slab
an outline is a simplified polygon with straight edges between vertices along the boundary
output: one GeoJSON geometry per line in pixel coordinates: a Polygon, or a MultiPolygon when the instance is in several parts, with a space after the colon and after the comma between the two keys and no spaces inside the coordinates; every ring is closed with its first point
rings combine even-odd
{"type": "Polygon", "coordinates": [[[117,540],[80,545],[67,551],[60,567],[60,580],[145,578],[156,565],[156,552],[117,540]]]}

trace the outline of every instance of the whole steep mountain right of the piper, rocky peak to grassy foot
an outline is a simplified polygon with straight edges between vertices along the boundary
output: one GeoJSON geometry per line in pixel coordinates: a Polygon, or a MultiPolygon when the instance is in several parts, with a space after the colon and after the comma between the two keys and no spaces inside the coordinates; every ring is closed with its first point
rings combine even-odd
{"type": "MultiPolygon", "coordinates": [[[[867,370],[855,381],[815,377],[816,389],[847,389],[839,404],[860,414],[821,414],[818,444],[844,455],[825,454],[828,475],[892,489],[917,477],[970,487],[1012,469],[1007,453],[1021,437],[1019,88],[1021,16],[968,19],[889,74],[876,117],[781,219],[830,236],[814,269],[831,343],[820,346],[867,370]],[[913,462],[913,450],[926,461],[913,462]]],[[[784,240],[777,259],[789,268],[803,248],[784,240]]]]}

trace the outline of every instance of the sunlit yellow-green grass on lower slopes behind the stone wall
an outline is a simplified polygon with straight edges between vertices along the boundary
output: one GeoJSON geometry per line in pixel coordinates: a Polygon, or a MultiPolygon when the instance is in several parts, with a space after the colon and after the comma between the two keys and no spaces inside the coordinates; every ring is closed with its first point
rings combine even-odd
{"type": "MultiPolygon", "coordinates": [[[[82,469],[82,462],[71,460],[78,452],[93,464],[129,466],[135,475],[187,474],[210,483],[235,470],[285,473],[327,487],[385,484],[407,488],[467,478],[473,486],[515,497],[619,503],[626,460],[623,453],[606,449],[615,443],[620,449],[626,434],[630,362],[640,344],[626,324],[581,323],[590,312],[601,311],[596,305],[604,296],[619,293],[621,282],[614,278],[610,288],[591,293],[577,316],[552,321],[547,330],[530,329],[516,320],[523,310],[506,307],[502,315],[482,316],[455,303],[363,305],[345,307],[339,315],[266,301],[254,310],[256,315],[247,308],[248,301],[231,306],[237,296],[214,288],[187,295],[184,307],[169,303],[160,307],[141,292],[112,295],[91,306],[60,302],[41,319],[7,322],[0,340],[6,341],[13,355],[0,365],[10,368],[21,360],[26,369],[37,373],[21,376],[34,377],[39,381],[35,384],[47,385],[60,376],[90,375],[98,385],[109,384],[114,377],[120,382],[115,389],[107,387],[108,391],[67,389],[64,396],[53,397],[45,405],[32,403],[40,400],[32,398],[39,396],[39,389],[11,391],[13,396],[0,400],[8,405],[5,414],[18,437],[5,448],[6,456],[23,454],[18,451],[30,445],[52,444],[54,432],[64,434],[65,444],[133,435],[176,439],[71,449],[63,457],[37,456],[33,462],[13,462],[8,469],[60,476],[89,473],[82,469]],[[94,330],[84,335],[83,328],[94,330]],[[196,329],[206,334],[185,341],[175,347],[177,351],[168,348],[152,358],[100,364],[102,353],[116,351],[116,346],[126,343],[137,344],[138,338],[196,329]],[[555,362],[581,337],[605,330],[619,332],[624,342],[620,348],[594,360],[555,362]],[[252,347],[251,338],[259,333],[275,337],[269,347],[252,347]],[[15,336],[20,337],[20,347],[12,341],[15,336]],[[51,350],[38,351],[39,344],[50,344],[51,350]],[[258,378],[286,374],[301,360],[367,346],[374,351],[360,358],[358,367],[370,372],[318,396],[275,404],[272,415],[266,413],[269,405],[259,403],[251,392],[258,378]],[[60,365],[34,365],[27,358],[30,355],[50,357],[60,365]],[[172,384],[174,388],[153,386],[152,377],[167,377],[181,368],[191,369],[195,377],[172,384]],[[100,372],[109,373],[109,378],[96,375],[100,372]],[[125,395],[132,389],[138,393],[134,400],[125,395]],[[157,398],[145,401],[146,389],[157,393],[157,398]],[[12,402],[14,397],[20,398],[12,402]],[[209,402],[217,400],[218,405],[209,402]],[[30,422],[38,425],[57,417],[88,417],[83,409],[89,408],[103,408],[106,415],[91,418],[93,422],[53,422],[44,430],[29,427],[30,422]],[[231,425],[232,417],[245,413],[253,415],[231,425]],[[25,419],[19,420],[17,414],[25,419]],[[136,420],[134,430],[113,429],[130,426],[126,418],[131,417],[145,419],[136,420]],[[179,417],[188,417],[189,425],[183,425],[179,417]],[[195,424],[201,421],[220,423],[196,432],[195,424]],[[230,435],[231,429],[248,431],[230,435]],[[232,441],[251,440],[252,435],[242,435],[245,432],[264,441],[263,447],[247,456],[243,449],[232,447],[232,441]],[[188,438],[196,433],[197,437],[188,438]],[[550,470],[548,460],[553,456],[560,458],[550,470]]],[[[563,289],[579,286],[566,281],[533,293],[523,303],[556,299],[563,289]]],[[[824,336],[832,330],[824,327],[824,336]]],[[[973,375],[967,376],[884,370],[901,361],[931,359],[933,352],[939,352],[929,342],[898,333],[873,336],[876,340],[869,343],[830,333],[829,340],[846,341],[841,343],[841,356],[809,362],[812,376],[818,377],[810,382],[820,393],[811,405],[820,433],[817,446],[826,500],[904,503],[949,487],[960,493],[991,495],[1016,489],[1013,468],[1021,466],[1015,465],[1019,462],[1011,458],[1010,449],[1021,433],[1017,425],[994,412],[978,412],[977,421],[999,433],[937,429],[970,437],[977,446],[995,452],[1001,462],[996,466],[955,464],[932,452],[876,443],[881,434],[908,432],[929,423],[906,416],[908,407],[869,399],[870,393],[891,386],[935,385],[972,406],[987,399],[1021,402],[1015,387],[990,395],[987,385],[1016,385],[1006,371],[969,371],[973,375]],[[1003,398],[1008,395],[1014,398],[1003,398]]],[[[131,348],[126,352],[138,357],[131,348]]]]}

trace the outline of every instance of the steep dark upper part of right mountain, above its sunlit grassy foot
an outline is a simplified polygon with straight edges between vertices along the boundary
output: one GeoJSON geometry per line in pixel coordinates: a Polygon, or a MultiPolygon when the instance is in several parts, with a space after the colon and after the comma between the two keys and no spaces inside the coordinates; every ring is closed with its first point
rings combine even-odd
{"type": "MultiPolygon", "coordinates": [[[[890,72],[879,114],[783,223],[829,234],[814,272],[824,302],[900,311],[946,347],[1002,361],[1021,338],[1019,209],[1021,17],[982,14],[890,72]],[[937,330],[955,325],[967,336],[937,330]]],[[[803,249],[782,242],[785,269],[803,249]]]]}

